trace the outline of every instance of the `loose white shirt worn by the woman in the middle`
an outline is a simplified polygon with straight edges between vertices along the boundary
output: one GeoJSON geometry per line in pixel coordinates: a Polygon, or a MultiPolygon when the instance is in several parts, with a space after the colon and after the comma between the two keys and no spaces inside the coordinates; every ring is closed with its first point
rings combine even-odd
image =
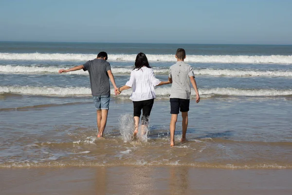
{"type": "Polygon", "coordinates": [[[133,88],[130,96],[132,101],[142,101],[155,98],[154,86],[161,81],[154,76],[152,68],[142,67],[140,70],[131,71],[131,77],[126,83],[127,86],[133,88]]]}

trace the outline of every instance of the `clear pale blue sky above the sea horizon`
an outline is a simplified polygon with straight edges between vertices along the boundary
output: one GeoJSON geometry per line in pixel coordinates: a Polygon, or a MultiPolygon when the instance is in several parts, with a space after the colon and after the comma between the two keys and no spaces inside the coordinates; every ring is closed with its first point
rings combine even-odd
{"type": "Polygon", "coordinates": [[[292,44],[292,0],[0,0],[0,41],[292,44]]]}

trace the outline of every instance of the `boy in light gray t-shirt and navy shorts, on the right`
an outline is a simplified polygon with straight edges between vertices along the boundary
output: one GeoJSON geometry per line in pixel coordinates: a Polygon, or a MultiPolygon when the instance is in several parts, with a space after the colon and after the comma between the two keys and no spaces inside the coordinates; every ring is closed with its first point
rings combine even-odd
{"type": "Polygon", "coordinates": [[[174,146],[175,125],[180,111],[182,112],[183,117],[183,135],[181,141],[185,141],[191,96],[190,82],[196,91],[196,102],[198,103],[200,101],[193,67],[184,63],[184,49],[179,48],[176,52],[175,58],[177,59],[177,63],[170,66],[168,76],[168,79],[172,80],[170,92],[170,146],[174,146]]]}

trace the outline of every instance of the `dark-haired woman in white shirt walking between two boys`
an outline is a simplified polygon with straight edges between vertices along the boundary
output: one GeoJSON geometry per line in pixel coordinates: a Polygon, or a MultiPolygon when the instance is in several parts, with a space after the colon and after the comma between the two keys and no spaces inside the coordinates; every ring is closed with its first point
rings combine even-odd
{"type": "Polygon", "coordinates": [[[117,94],[129,88],[133,88],[133,92],[130,99],[134,105],[134,137],[138,133],[139,120],[141,116],[141,110],[143,115],[141,118],[142,134],[145,134],[145,128],[148,125],[148,119],[153,106],[155,92],[154,87],[171,83],[168,81],[160,81],[155,78],[153,69],[149,66],[147,57],[144,53],[139,53],[135,60],[135,68],[131,71],[129,81],[123,87],[116,90],[117,94]]]}

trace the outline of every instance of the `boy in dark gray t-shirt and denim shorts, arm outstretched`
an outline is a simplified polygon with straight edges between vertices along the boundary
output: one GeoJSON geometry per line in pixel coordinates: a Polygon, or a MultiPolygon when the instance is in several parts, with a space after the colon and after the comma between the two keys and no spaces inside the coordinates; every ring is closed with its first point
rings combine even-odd
{"type": "Polygon", "coordinates": [[[83,65],[75,66],[68,70],[59,70],[59,73],[67,73],[81,69],[89,72],[91,93],[97,112],[97,137],[102,137],[107,124],[110,106],[110,81],[115,91],[118,89],[111,73],[110,63],[107,62],[107,59],[108,54],[106,52],[100,52],[96,59],[89,60],[83,65]]]}

